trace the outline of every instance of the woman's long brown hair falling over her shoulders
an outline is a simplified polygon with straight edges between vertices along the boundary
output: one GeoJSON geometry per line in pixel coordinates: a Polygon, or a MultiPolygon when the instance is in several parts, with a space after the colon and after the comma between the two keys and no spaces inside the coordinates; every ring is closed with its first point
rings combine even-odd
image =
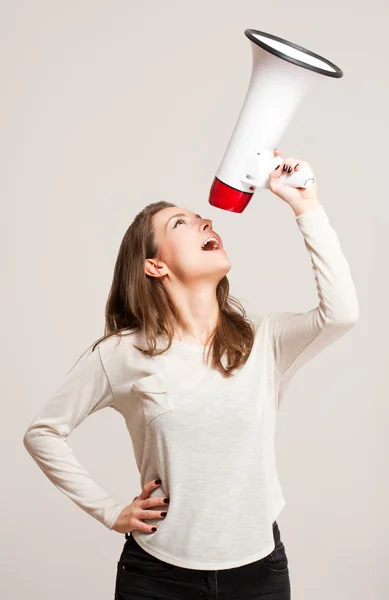
{"type": "MultiPolygon", "coordinates": [[[[159,253],[152,217],[171,206],[177,205],[165,201],[148,204],[124,234],[105,307],[104,336],[94,343],[92,352],[103,340],[127,329],[142,333],[147,347],[135,344],[134,347],[147,356],[163,354],[170,348],[178,314],[160,279],[145,273],[144,263],[159,253]],[[166,335],[168,340],[166,348],[158,350],[157,337],[160,335],[166,335]]],[[[239,300],[229,296],[229,289],[229,281],[224,276],[216,288],[220,307],[218,323],[207,340],[210,344],[207,360],[212,354],[211,367],[226,377],[247,361],[255,336],[253,323],[246,317],[239,300]],[[221,360],[224,354],[226,366],[221,360]]]]}

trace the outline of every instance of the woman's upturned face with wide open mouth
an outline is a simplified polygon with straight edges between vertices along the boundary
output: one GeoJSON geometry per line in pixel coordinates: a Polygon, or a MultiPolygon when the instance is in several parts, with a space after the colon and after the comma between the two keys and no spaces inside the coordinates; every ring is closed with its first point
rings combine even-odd
{"type": "Polygon", "coordinates": [[[152,219],[159,256],[146,260],[146,273],[185,283],[208,279],[216,285],[228,273],[231,264],[210,219],[177,206],[160,210],[152,219]],[[216,238],[218,249],[213,249],[216,242],[202,249],[210,237],[216,238]]]}

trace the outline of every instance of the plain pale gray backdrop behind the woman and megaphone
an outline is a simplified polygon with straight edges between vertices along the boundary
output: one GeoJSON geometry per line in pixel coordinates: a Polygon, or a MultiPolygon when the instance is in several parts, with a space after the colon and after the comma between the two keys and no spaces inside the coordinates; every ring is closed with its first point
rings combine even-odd
{"type": "MultiPolygon", "coordinates": [[[[208,204],[251,73],[246,28],[344,71],[312,89],[279,144],[315,171],[361,311],[296,374],[279,413],[292,597],[387,597],[385,22],[377,1],[2,2],[3,597],[113,597],[124,536],[61,494],[22,438],[102,335],[119,244],[142,207],[164,199],[212,218],[249,313],[317,304],[289,206],[268,190],[241,215],[208,204]]],[[[140,492],[120,415],[95,414],[69,443],[118,498],[140,492]]]]}

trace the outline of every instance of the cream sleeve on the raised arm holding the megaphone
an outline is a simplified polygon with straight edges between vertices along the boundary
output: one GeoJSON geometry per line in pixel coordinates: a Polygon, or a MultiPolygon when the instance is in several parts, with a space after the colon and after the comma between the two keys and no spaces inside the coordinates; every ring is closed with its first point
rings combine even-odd
{"type": "Polygon", "coordinates": [[[347,260],[322,204],[295,217],[311,259],[319,303],[308,312],[266,316],[280,378],[279,401],[294,373],[347,333],[359,305],[347,260]]]}

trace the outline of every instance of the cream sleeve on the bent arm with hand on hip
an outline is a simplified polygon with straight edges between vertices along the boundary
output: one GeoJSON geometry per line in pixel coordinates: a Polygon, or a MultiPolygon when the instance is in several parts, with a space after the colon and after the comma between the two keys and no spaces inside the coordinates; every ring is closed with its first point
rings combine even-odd
{"type": "Polygon", "coordinates": [[[114,406],[99,347],[83,355],[41,408],[23,443],[50,481],[89,515],[112,529],[126,506],[105,491],[79,463],[67,437],[94,412],[114,406]]]}

